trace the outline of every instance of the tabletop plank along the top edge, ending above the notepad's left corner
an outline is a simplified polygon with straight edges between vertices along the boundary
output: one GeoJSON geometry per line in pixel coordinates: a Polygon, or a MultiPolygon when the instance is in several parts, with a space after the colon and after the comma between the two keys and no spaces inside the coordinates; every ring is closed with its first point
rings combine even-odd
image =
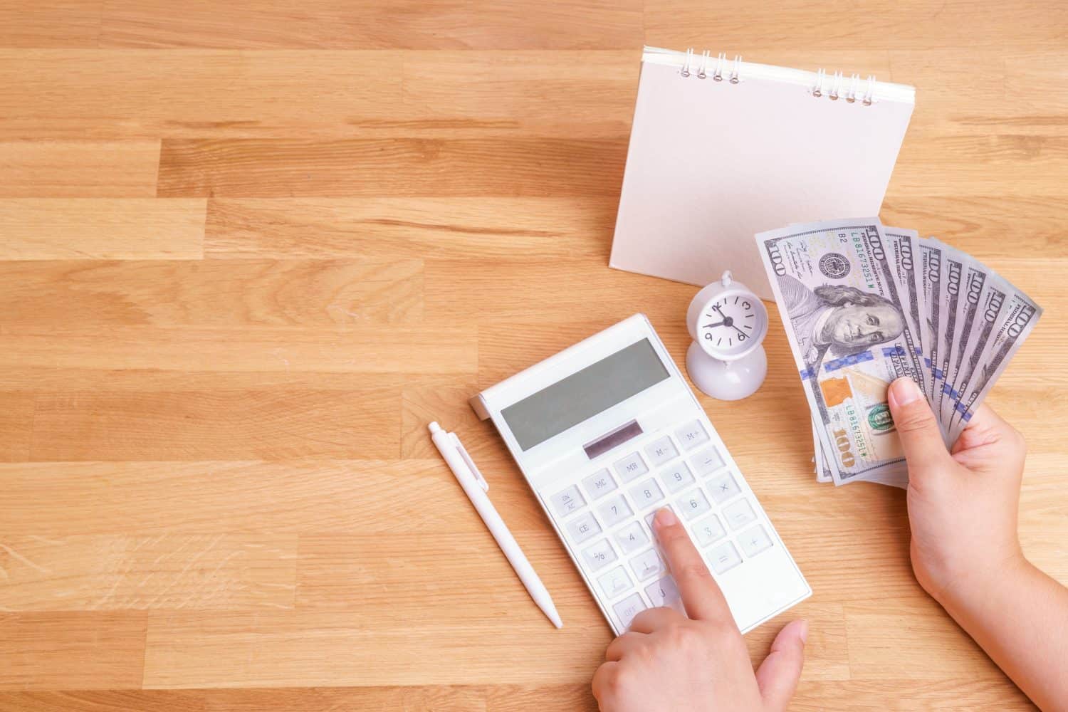
{"type": "Polygon", "coordinates": [[[298,5],[257,0],[240,21],[209,0],[180,10],[167,0],[108,2],[100,43],[106,47],[395,47],[575,49],[629,46],[642,41],[637,0],[547,2],[538,13],[508,0],[426,5],[419,0],[313,0],[298,5]]]}

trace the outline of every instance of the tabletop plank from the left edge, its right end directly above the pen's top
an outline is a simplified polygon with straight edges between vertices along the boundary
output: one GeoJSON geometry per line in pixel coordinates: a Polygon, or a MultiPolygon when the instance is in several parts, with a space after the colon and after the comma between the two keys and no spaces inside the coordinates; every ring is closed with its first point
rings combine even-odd
{"type": "Polygon", "coordinates": [[[341,336],[345,327],[418,322],[423,271],[404,258],[11,260],[0,263],[0,310],[9,325],[108,325],[116,334],[130,325],[318,326],[341,336]]]}

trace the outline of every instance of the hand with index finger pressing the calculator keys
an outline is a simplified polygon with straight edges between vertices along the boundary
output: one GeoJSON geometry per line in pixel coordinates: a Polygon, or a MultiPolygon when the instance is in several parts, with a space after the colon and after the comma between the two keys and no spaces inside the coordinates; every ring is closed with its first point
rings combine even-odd
{"type": "Polygon", "coordinates": [[[726,600],[671,509],[654,531],[689,618],[647,608],[604,651],[593,680],[604,712],[785,710],[804,663],[807,622],[780,631],[756,673],[726,600]]]}

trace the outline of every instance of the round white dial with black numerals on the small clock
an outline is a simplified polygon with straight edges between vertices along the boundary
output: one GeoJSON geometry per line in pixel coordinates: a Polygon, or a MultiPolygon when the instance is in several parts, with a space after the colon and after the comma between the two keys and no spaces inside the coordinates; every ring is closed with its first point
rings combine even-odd
{"type": "Polygon", "coordinates": [[[752,292],[728,289],[701,311],[696,331],[705,353],[723,361],[740,359],[764,341],[768,311],[752,292]]]}

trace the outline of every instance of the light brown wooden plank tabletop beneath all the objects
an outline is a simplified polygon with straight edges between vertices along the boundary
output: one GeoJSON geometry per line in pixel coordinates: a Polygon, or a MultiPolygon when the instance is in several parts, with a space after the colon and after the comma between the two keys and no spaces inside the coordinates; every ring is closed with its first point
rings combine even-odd
{"type": "MultiPolygon", "coordinates": [[[[643,43],[917,88],[882,218],[1046,307],[990,402],[1068,581],[1066,37],[1052,0],[0,3],[0,708],[595,707],[609,629],[467,399],[638,311],[682,361],[695,288],[607,267],[643,43]]],[[[1030,709],[915,583],[904,493],[814,481],[767,348],[703,401],[814,589],[754,659],[804,616],[796,710],[1030,709]]]]}

